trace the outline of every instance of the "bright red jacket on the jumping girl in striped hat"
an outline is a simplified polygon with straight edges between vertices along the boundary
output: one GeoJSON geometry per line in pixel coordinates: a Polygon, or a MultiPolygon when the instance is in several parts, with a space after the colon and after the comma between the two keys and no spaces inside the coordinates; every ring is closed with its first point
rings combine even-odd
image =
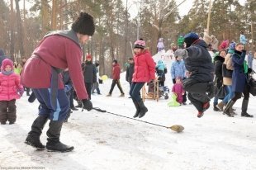
{"type": "Polygon", "coordinates": [[[144,50],[140,54],[135,54],[135,73],[132,82],[149,82],[155,78],[155,64],[149,50],[144,50]]]}

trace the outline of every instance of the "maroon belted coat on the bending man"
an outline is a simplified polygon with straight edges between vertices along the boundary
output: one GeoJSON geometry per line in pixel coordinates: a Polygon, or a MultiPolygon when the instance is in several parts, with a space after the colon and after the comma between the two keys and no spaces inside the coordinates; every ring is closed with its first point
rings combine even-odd
{"type": "MultiPolygon", "coordinates": [[[[50,35],[40,42],[31,58],[27,59],[21,73],[21,84],[31,88],[49,88],[52,67],[69,68],[70,78],[78,99],[87,99],[81,65],[82,50],[80,45],[62,35],[50,35]]],[[[63,89],[59,74],[59,89],[63,89]]]]}

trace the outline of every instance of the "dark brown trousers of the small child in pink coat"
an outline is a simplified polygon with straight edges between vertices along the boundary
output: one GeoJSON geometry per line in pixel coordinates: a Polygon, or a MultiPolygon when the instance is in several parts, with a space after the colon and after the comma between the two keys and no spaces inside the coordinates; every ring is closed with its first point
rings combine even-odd
{"type": "Polygon", "coordinates": [[[5,123],[7,120],[9,122],[16,121],[16,100],[12,101],[0,101],[0,122],[5,123]]]}

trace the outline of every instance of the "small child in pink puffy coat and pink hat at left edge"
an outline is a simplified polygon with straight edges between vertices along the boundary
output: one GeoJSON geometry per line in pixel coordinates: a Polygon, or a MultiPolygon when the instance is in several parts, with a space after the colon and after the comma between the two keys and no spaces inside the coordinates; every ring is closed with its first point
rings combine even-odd
{"type": "Polygon", "coordinates": [[[0,73],[0,122],[5,125],[7,120],[12,125],[16,121],[16,99],[19,99],[24,90],[20,83],[20,76],[13,73],[11,59],[2,61],[0,73]]]}

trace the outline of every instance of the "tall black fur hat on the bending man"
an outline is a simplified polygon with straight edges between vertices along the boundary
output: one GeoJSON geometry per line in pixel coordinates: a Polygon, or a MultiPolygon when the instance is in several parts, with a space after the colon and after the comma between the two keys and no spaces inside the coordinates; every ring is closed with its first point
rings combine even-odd
{"type": "Polygon", "coordinates": [[[92,36],[95,31],[93,17],[87,12],[81,12],[76,21],[73,22],[72,30],[83,35],[92,36]]]}

